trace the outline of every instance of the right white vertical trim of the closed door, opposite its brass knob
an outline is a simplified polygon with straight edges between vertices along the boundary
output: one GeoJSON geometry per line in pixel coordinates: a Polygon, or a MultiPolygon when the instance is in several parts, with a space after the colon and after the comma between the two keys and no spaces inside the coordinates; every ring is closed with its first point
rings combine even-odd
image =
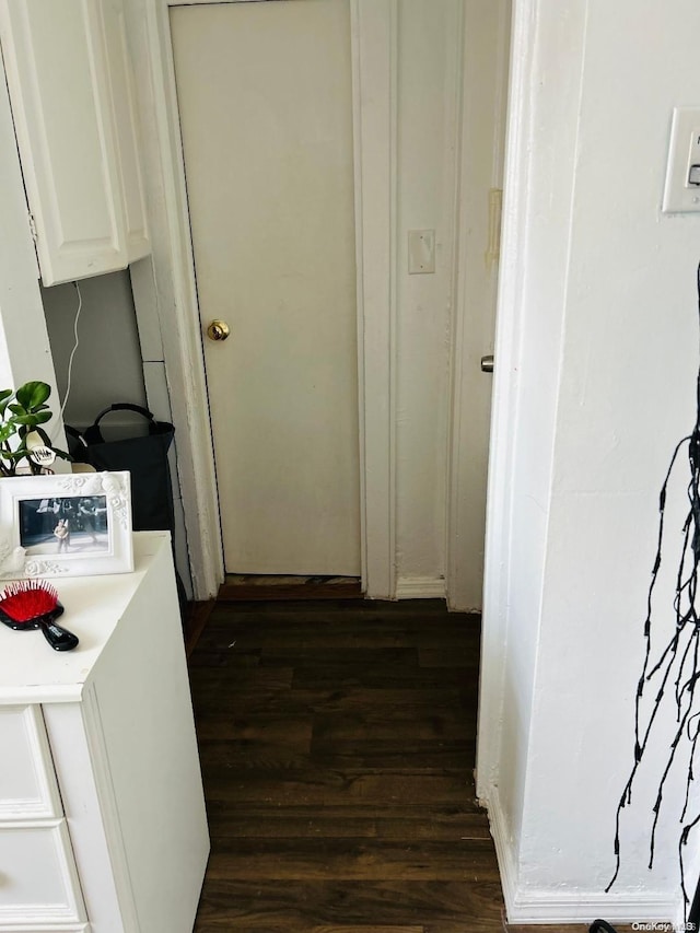
{"type": "Polygon", "coordinates": [[[362,590],[388,599],[396,553],[396,3],[352,0],[362,590]]]}

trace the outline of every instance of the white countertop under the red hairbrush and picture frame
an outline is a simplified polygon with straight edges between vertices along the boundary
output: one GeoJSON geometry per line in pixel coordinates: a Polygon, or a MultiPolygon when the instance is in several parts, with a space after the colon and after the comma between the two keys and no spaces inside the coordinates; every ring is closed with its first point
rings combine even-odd
{"type": "Polygon", "coordinates": [[[13,631],[0,623],[0,704],[79,700],[154,556],[164,547],[170,548],[167,532],[136,532],[132,573],[50,581],[65,608],[58,625],[80,639],[72,651],[55,651],[38,629],[13,631]]]}

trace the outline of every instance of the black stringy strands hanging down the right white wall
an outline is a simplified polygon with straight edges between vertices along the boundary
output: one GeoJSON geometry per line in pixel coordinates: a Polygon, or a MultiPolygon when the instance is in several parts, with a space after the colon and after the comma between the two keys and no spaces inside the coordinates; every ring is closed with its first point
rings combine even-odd
{"type": "MultiPolygon", "coordinates": [[[[698,287],[698,316],[700,319],[700,266],[697,271],[698,287]]],[[[700,814],[689,818],[690,786],[695,780],[693,762],[698,742],[700,739],[700,705],[696,702],[696,688],[700,678],[698,660],[700,655],[700,625],[696,597],[698,595],[698,567],[700,564],[700,370],[697,380],[697,415],[692,432],[684,438],[670,458],[670,464],[661,488],[658,497],[658,538],[656,545],[656,558],[652,568],[652,579],[646,598],[646,618],[644,620],[645,654],[642,673],[637,685],[637,698],[634,702],[634,763],[630,777],[625,785],[620,802],[617,807],[615,820],[615,874],[606,888],[610,890],[617,880],[620,871],[620,818],[622,810],[632,802],[632,784],[644,759],[650,737],[654,730],[654,722],[661,709],[662,699],[673,685],[676,731],[668,749],[668,757],[661,777],[656,798],[653,805],[653,821],[650,837],[649,867],[654,864],[654,844],[656,829],[661,814],[666,781],[676,759],[681,739],[687,737],[690,744],[688,774],[686,778],[685,803],[680,817],[681,831],[678,841],[678,861],[680,866],[680,885],[684,896],[684,910],[687,919],[689,897],[686,889],[686,877],[684,866],[684,850],[688,844],[688,838],[695,827],[700,823],[700,814]],[[662,563],[662,549],[664,544],[664,522],[666,517],[666,493],[668,483],[674,474],[676,463],[681,452],[688,460],[690,480],[687,486],[688,513],[682,525],[682,552],[678,572],[676,574],[676,590],[673,602],[676,617],[676,627],[673,637],[664,645],[658,657],[652,656],[652,602],[658,571],[662,563]],[[645,691],[655,689],[651,712],[642,714],[642,699],[645,691]]],[[[698,695],[700,698],[700,695],[698,695]]]]}

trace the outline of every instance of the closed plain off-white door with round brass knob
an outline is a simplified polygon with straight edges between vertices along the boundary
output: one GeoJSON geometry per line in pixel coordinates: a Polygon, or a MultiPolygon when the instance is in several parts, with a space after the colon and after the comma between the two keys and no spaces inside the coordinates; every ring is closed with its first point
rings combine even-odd
{"type": "Polygon", "coordinates": [[[226,570],[359,575],[349,2],[171,25],[226,570]]]}

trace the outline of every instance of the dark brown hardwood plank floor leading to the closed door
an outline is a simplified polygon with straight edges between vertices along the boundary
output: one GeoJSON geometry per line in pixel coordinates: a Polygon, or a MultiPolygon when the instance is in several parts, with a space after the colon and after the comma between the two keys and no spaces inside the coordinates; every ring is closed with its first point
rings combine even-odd
{"type": "Polygon", "coordinates": [[[190,657],[212,838],[195,931],[508,929],[478,661],[479,618],[438,600],[218,603],[190,657]]]}

